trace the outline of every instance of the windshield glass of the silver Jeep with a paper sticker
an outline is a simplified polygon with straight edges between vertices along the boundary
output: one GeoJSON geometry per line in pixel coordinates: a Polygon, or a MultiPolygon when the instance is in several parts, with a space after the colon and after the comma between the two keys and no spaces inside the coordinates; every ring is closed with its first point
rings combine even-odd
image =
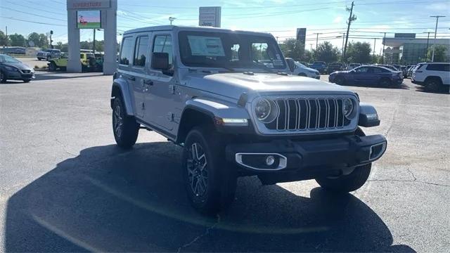
{"type": "Polygon", "coordinates": [[[179,48],[181,62],[190,67],[232,67],[268,72],[286,67],[276,41],[269,36],[182,31],[179,32],[179,48]]]}

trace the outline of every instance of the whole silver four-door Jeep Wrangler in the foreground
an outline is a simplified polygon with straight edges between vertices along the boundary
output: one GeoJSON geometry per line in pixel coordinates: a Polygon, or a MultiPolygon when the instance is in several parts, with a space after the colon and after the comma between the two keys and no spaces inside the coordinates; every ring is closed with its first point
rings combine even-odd
{"type": "Polygon", "coordinates": [[[342,86],[288,73],[271,34],[159,26],[124,33],[111,93],[117,145],[140,128],[183,149],[188,199],[203,213],[231,203],[238,176],[263,184],[316,179],[363,186],[386,150],[376,110],[342,86]]]}

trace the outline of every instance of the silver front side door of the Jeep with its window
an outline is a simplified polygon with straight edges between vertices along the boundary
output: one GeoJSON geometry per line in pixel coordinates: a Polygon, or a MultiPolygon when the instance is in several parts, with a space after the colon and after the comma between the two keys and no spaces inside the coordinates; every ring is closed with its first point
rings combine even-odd
{"type": "MultiPolygon", "coordinates": [[[[168,53],[169,64],[173,70],[172,36],[168,32],[153,32],[153,52],[168,53]]],[[[151,57],[150,57],[151,58],[151,57]]],[[[146,92],[146,122],[172,133],[174,131],[174,77],[161,70],[149,68],[148,79],[150,85],[146,92]]],[[[173,134],[173,133],[172,133],[173,134]]]]}

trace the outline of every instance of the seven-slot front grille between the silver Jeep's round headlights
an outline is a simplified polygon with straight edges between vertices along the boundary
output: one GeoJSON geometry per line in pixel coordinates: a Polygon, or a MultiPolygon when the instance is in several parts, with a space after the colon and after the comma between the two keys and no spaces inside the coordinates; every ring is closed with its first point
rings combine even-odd
{"type": "Polygon", "coordinates": [[[341,129],[350,124],[343,98],[277,98],[279,114],[267,129],[278,131],[341,129]]]}

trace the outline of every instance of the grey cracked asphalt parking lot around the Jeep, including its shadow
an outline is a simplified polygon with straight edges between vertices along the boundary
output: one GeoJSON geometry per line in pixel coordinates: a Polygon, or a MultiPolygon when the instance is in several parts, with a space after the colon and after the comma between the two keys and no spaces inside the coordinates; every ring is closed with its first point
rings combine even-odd
{"type": "Polygon", "coordinates": [[[244,178],[207,218],[186,200],[180,148],[145,130],[116,147],[111,79],[0,84],[0,252],[449,252],[449,94],[349,86],[382,119],[366,134],[389,142],[366,185],[338,196],[244,178]]]}

